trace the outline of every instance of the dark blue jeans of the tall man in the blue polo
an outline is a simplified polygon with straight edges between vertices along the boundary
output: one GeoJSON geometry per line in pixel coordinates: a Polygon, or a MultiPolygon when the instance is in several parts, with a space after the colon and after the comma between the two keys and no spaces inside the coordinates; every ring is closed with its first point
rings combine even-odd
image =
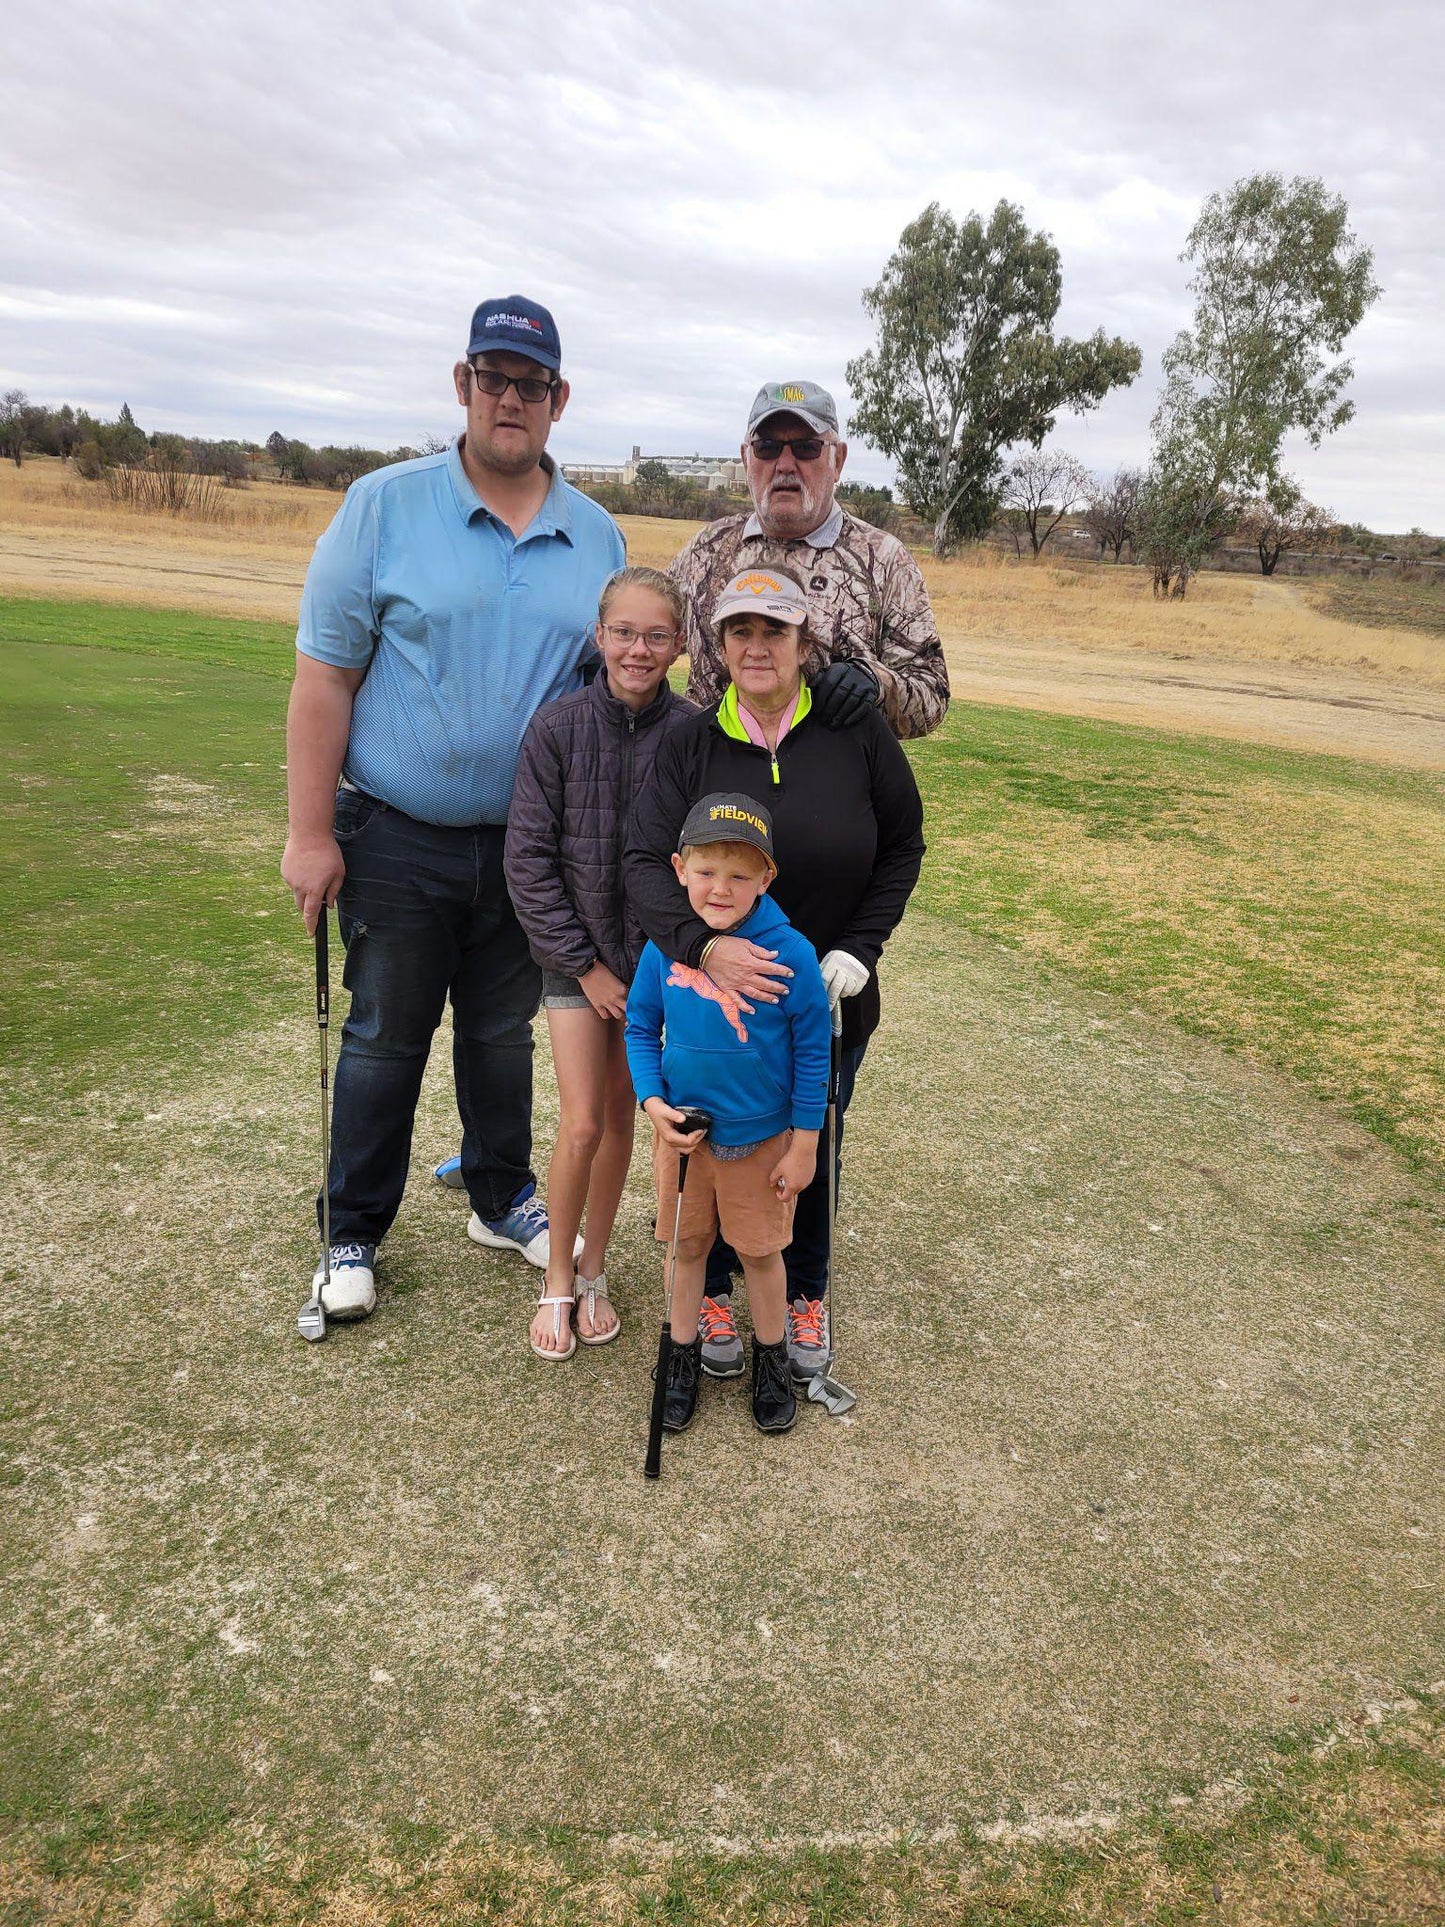
{"type": "MultiPolygon", "coordinates": [[[[532,1017],[541,971],[507,896],[507,831],[418,823],[339,790],[337,915],[351,1010],[331,1102],[331,1239],[380,1245],[401,1208],[432,1037],[451,996],[462,1181],[501,1218],[532,1174],[532,1017]]],[[[320,1210],[320,1199],[318,1199],[320,1210]]]]}

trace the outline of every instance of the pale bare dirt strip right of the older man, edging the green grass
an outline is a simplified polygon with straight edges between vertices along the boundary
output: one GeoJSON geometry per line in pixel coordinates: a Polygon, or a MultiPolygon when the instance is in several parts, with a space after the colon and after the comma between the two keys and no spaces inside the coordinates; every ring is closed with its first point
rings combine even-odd
{"type": "Polygon", "coordinates": [[[971,638],[950,644],[948,671],[963,701],[1445,769],[1445,698],[1333,667],[971,638]]]}

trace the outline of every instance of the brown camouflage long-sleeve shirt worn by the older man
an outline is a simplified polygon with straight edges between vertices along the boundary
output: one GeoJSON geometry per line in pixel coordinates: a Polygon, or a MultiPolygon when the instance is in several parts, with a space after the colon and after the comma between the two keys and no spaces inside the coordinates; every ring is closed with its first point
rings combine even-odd
{"type": "Polygon", "coordinates": [[[938,728],[948,711],[948,665],[923,570],[896,536],[844,509],[798,541],[773,541],[755,516],[726,516],[672,559],[669,574],[688,595],[692,701],[711,707],[728,686],[711,615],[728,578],[751,565],[780,565],[801,580],[825,663],[857,657],[888,671],[882,713],[898,736],[938,728]]]}

